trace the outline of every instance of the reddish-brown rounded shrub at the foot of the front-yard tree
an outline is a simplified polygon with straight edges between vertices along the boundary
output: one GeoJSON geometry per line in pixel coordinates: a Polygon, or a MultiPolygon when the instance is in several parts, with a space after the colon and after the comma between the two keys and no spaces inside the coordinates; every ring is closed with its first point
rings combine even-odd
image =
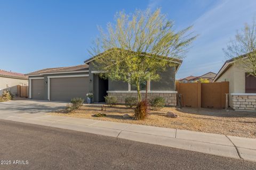
{"type": "Polygon", "coordinates": [[[134,117],[137,120],[143,120],[148,115],[148,101],[143,100],[137,104],[134,109],[134,117]]]}

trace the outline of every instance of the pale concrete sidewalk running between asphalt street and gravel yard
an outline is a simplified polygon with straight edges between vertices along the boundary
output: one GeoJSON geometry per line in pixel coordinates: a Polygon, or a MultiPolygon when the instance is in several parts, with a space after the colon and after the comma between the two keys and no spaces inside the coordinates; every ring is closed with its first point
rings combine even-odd
{"type": "Polygon", "coordinates": [[[0,114],[0,119],[51,126],[256,162],[256,139],[45,114],[0,114]]]}

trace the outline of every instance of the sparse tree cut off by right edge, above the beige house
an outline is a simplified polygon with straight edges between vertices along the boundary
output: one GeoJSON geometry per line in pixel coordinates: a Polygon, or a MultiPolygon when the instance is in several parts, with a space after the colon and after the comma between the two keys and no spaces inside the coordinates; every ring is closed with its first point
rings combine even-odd
{"type": "Polygon", "coordinates": [[[256,77],[256,20],[252,25],[246,23],[241,31],[237,31],[235,39],[223,50],[241,69],[256,77]]]}

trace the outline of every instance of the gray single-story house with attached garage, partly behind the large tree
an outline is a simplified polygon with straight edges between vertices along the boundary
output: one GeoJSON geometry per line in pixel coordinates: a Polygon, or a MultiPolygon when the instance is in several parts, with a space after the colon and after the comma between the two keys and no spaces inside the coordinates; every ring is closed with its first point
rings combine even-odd
{"type": "MultiPolygon", "coordinates": [[[[97,57],[100,57],[99,55],[97,57]]],[[[93,62],[95,56],[84,61],[83,65],[58,67],[38,70],[27,74],[29,77],[29,98],[40,100],[70,101],[71,98],[86,98],[92,92],[93,101],[104,101],[104,96],[115,96],[118,103],[124,103],[125,97],[137,96],[137,91],[131,84],[122,81],[105,80],[99,77],[93,62]]],[[[182,61],[172,61],[175,66],[167,67],[165,72],[159,73],[161,80],[149,81],[148,98],[162,96],[166,105],[176,105],[175,73],[182,61]]],[[[146,86],[142,87],[142,98],[145,96],[146,86]]]]}

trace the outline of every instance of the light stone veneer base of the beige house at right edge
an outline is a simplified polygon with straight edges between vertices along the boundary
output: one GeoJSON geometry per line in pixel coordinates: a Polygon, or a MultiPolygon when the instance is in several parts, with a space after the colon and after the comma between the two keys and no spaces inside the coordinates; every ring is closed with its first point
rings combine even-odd
{"type": "Polygon", "coordinates": [[[256,94],[230,94],[230,106],[236,111],[256,111],[256,94]]]}

